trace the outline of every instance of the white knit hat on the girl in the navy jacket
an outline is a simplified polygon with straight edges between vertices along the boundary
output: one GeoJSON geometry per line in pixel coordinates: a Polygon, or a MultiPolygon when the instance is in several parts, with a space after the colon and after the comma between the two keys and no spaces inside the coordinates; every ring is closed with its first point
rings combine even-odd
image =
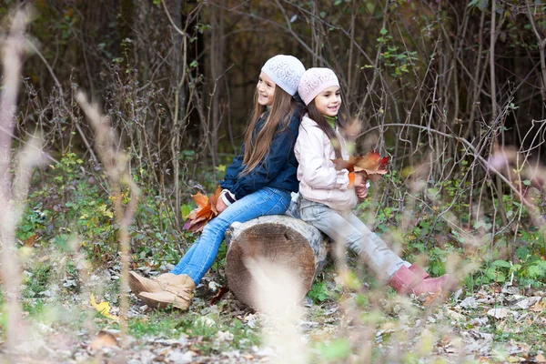
{"type": "Polygon", "coordinates": [[[295,56],[278,55],[268,59],[262,72],[269,76],[280,88],[294,96],[298,91],[299,77],[305,66],[295,56]]]}

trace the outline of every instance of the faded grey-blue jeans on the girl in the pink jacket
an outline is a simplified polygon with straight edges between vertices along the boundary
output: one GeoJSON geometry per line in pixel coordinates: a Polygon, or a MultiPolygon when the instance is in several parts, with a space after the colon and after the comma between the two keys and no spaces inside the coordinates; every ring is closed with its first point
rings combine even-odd
{"type": "Polygon", "coordinates": [[[388,281],[396,271],[410,263],[399,258],[373,232],[350,211],[339,212],[319,202],[300,197],[301,219],[317,227],[334,241],[345,246],[364,259],[366,265],[383,281],[388,281]]]}

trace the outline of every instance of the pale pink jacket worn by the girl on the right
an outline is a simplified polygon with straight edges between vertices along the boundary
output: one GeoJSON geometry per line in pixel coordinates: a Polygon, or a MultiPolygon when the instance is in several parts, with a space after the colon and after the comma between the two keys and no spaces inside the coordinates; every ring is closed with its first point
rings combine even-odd
{"type": "MultiPolygon", "coordinates": [[[[339,137],[341,155],[349,159],[347,143],[339,137]]],[[[325,204],[335,210],[348,210],[357,205],[359,198],[349,188],[349,171],[336,170],[331,159],[336,158],[329,137],[306,114],[299,125],[298,139],[294,147],[298,159],[299,193],[311,201],[325,204]]]]}

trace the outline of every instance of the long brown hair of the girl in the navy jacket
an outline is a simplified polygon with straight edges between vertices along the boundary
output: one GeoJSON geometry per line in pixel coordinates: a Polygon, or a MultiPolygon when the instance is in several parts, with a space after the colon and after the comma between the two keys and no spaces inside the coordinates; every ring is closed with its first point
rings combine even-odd
{"type": "Polygon", "coordinates": [[[258,92],[255,91],[254,112],[250,116],[250,122],[245,133],[245,157],[243,158],[245,168],[240,173],[241,177],[258,167],[269,152],[271,140],[273,140],[278,125],[282,124],[284,128],[288,127],[290,118],[294,113],[298,112],[298,108],[298,102],[277,85],[273,94],[271,109],[268,111],[268,115],[264,115],[267,113],[266,106],[258,104],[258,92]],[[254,128],[258,119],[262,116],[267,117],[267,120],[259,130],[258,135],[255,136],[254,128]]]}

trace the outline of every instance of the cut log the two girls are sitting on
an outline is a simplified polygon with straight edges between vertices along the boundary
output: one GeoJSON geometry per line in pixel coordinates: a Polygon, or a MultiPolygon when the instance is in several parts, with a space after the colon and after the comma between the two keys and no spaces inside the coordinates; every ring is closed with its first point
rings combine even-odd
{"type": "Polygon", "coordinates": [[[266,259],[284,266],[297,277],[305,294],[326,266],[329,238],[318,228],[286,215],[254,218],[234,223],[226,232],[227,285],[241,302],[255,307],[252,287],[255,282],[245,259],[266,259]]]}

